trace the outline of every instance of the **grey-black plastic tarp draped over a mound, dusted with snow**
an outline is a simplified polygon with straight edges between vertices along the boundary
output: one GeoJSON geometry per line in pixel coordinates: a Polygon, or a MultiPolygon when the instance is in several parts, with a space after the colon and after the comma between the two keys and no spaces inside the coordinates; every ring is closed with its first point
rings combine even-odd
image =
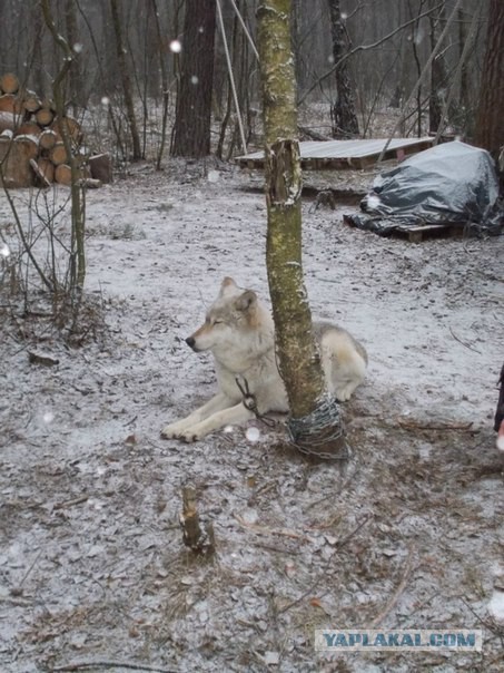
{"type": "Polygon", "coordinates": [[[496,234],[504,222],[492,157],[458,142],[421,152],[382,173],[360,207],[367,215],[345,220],[384,235],[445,223],[496,234]]]}

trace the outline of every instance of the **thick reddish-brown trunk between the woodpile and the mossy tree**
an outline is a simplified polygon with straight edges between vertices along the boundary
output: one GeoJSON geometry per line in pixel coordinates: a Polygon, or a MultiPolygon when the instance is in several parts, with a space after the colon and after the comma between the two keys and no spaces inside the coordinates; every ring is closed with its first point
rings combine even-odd
{"type": "Polygon", "coordinates": [[[216,0],[187,0],[172,156],[210,154],[216,0]]]}

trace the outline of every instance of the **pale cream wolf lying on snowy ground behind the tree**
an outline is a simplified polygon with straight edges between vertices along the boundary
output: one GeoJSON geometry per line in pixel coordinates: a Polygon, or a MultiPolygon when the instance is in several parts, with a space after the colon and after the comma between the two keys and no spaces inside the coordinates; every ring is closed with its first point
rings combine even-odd
{"type": "MultiPolygon", "coordinates": [[[[329,323],[314,323],[314,332],[328,391],[339,401],[348,400],[366,373],[364,347],[329,323]]],[[[243,403],[237,377],[246,381],[258,413],[288,411],[276,362],[273,318],[253,290],[224,279],[204,324],[186,343],[196,352],[213,352],[219,392],[187,418],[164,428],[162,437],[197,441],[213,430],[253,418],[254,411],[243,403]]]]}

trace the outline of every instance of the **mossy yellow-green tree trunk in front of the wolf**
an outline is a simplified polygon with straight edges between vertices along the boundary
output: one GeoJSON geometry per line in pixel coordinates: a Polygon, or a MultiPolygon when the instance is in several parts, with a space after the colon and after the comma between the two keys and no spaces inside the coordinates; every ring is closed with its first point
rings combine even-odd
{"type": "Polygon", "coordinates": [[[299,448],[313,447],[310,452],[318,453],[340,449],[344,440],[338,408],[326,393],[303,281],[302,169],[290,11],[290,0],[261,0],[257,11],[268,209],[266,263],[279,370],[291,412],[288,427],[299,448]],[[325,422],[319,423],[322,409],[325,422]]]}

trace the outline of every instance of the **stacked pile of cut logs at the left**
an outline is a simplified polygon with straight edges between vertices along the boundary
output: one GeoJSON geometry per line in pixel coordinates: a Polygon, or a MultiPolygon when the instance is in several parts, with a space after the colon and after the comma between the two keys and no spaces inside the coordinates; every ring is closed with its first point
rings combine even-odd
{"type": "Polygon", "coordinates": [[[71,184],[77,166],[79,184],[98,187],[112,178],[108,154],[91,156],[83,145],[80,124],[70,116],[58,118],[55,105],[22,89],[16,75],[0,77],[0,184],[7,187],[71,184]],[[68,156],[65,138],[71,147],[68,156]]]}

